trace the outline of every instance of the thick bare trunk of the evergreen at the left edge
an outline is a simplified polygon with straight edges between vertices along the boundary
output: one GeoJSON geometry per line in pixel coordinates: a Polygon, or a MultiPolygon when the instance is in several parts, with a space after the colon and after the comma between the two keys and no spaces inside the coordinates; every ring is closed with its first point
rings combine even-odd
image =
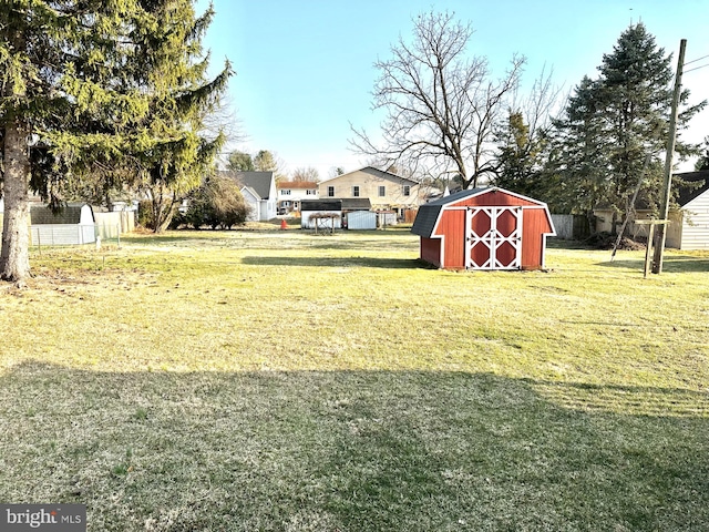
{"type": "Polygon", "coordinates": [[[4,130],[4,217],[0,278],[24,285],[30,275],[29,130],[19,121],[4,130]]]}

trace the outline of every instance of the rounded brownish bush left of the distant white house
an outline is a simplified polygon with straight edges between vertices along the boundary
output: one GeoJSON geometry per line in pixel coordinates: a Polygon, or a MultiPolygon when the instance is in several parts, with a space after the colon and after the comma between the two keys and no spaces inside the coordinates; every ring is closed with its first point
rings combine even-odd
{"type": "Polygon", "coordinates": [[[184,222],[194,228],[206,225],[230,229],[245,224],[250,212],[238,183],[228,177],[208,177],[191,194],[188,203],[184,222]]]}

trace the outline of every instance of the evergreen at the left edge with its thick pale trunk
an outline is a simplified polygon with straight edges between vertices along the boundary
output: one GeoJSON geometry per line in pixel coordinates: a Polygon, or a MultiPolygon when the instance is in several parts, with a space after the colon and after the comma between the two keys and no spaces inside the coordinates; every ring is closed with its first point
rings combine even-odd
{"type": "Polygon", "coordinates": [[[30,273],[30,188],[47,196],[69,170],[85,170],[90,154],[95,165],[110,160],[120,146],[114,133],[145,111],[140,92],[117,90],[126,30],[138,14],[120,0],[0,3],[0,278],[21,285],[30,273]],[[111,131],[102,115],[112,116],[111,131]],[[85,157],[60,162],[60,146],[84,146],[85,157]]]}

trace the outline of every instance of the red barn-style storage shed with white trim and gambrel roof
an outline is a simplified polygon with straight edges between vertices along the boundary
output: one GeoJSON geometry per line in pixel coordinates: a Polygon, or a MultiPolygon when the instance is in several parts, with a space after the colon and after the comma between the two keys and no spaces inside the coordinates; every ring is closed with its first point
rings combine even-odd
{"type": "Polygon", "coordinates": [[[545,203],[496,187],[421,205],[411,232],[421,259],[446,269],[540,269],[556,235],[545,203]]]}

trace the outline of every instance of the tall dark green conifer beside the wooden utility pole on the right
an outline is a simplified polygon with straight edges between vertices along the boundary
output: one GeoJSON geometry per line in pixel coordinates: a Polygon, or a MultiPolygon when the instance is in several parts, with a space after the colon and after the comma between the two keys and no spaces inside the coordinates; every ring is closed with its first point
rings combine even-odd
{"type": "MultiPolygon", "coordinates": [[[[639,23],[623,32],[598,71],[598,79],[585,78],[576,86],[556,123],[563,154],[556,170],[569,207],[588,214],[605,203],[619,219],[631,207],[641,174],[640,201],[658,205],[672,96],[671,54],[639,23]]],[[[687,91],[681,95],[682,124],[703,106],[687,108],[688,96],[687,91]]],[[[680,153],[687,149],[678,143],[680,153]]]]}

